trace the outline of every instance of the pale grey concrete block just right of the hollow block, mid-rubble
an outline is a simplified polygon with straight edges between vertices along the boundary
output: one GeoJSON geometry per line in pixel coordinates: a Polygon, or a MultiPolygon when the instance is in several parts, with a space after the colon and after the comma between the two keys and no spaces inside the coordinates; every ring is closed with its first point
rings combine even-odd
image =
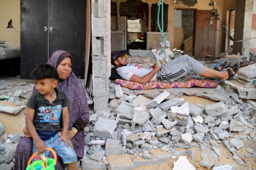
{"type": "Polygon", "coordinates": [[[148,115],[147,111],[134,110],[131,130],[134,130],[135,124],[143,125],[147,120],[149,120],[148,115]]]}

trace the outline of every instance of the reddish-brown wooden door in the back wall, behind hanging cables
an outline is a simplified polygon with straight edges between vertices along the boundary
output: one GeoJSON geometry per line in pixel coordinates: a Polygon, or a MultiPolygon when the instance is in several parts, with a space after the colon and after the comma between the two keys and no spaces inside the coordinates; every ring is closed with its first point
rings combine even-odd
{"type": "Polygon", "coordinates": [[[209,25],[210,12],[210,10],[196,10],[194,39],[196,57],[202,57],[207,54],[215,56],[217,21],[213,17],[212,24],[209,25]],[[204,52],[202,52],[203,48],[204,52]]]}

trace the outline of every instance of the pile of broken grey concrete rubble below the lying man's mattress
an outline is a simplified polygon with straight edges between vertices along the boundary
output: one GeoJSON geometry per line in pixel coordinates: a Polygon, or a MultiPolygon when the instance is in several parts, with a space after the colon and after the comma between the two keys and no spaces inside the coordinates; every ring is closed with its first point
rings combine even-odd
{"type": "MultiPolygon", "coordinates": [[[[120,85],[110,84],[113,92],[110,111],[91,113],[86,127],[82,169],[132,169],[164,162],[172,155],[184,153],[194,162],[193,147],[200,147],[200,166],[210,169],[221,157],[220,144],[233,154],[239,165],[246,162],[245,158],[256,158],[256,106],[229,98],[226,105],[218,102],[204,107],[184,103],[182,98],[164,101],[170,94],[166,91],[150,100],[142,95],[123,94],[122,89],[120,85]],[[246,144],[246,154],[237,154],[247,140],[252,140],[254,145],[246,144]],[[187,150],[178,152],[177,148],[187,150]],[[152,150],[156,149],[169,155],[155,155],[152,150]],[[143,160],[136,161],[139,157],[143,160]]],[[[174,162],[177,167],[178,161],[174,162]]],[[[221,166],[216,165],[214,169],[221,166]]]]}

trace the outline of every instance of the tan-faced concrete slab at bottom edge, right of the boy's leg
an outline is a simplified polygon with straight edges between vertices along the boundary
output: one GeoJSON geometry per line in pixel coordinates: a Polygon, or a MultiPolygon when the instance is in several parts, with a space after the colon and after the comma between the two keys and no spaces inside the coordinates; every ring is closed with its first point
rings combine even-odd
{"type": "Polygon", "coordinates": [[[107,156],[109,170],[132,169],[133,162],[129,154],[107,156]]]}

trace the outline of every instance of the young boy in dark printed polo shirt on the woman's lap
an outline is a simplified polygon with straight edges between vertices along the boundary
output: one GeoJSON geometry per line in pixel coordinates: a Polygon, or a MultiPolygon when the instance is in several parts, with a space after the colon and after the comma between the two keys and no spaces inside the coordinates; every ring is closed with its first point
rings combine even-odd
{"type": "Polygon", "coordinates": [[[55,88],[58,76],[56,68],[47,64],[32,71],[38,93],[33,94],[27,103],[26,126],[33,138],[33,153],[45,152],[47,157],[50,151],[46,148],[52,148],[63,163],[67,163],[68,170],[73,170],[77,169],[77,154],[68,137],[69,101],[65,92],[55,88]],[[59,137],[61,124],[63,132],[59,137]]]}

